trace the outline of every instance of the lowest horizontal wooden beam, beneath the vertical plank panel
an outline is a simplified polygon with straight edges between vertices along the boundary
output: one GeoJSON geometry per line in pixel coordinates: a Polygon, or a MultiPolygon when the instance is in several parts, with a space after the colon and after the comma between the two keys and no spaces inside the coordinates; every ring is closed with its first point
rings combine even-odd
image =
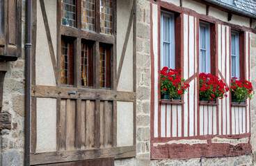
{"type": "Polygon", "coordinates": [[[136,156],[136,146],[112,147],[104,149],[54,151],[31,154],[31,165],[61,163],[95,158],[130,158],[136,156]]]}

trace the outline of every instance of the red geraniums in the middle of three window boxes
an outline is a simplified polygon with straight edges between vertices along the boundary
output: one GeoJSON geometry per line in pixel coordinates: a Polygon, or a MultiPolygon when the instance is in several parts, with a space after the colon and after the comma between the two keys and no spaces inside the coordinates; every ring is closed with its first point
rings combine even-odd
{"type": "Polygon", "coordinates": [[[220,80],[217,76],[211,75],[211,73],[200,73],[199,75],[200,98],[205,98],[212,102],[216,98],[227,97],[228,91],[227,85],[220,80]]]}

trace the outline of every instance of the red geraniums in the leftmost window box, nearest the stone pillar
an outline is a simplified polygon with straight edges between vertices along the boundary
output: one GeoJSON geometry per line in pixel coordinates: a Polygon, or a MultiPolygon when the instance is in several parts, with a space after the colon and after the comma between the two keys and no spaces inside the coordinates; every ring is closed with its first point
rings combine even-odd
{"type": "MultiPolygon", "coordinates": [[[[181,71],[177,69],[177,71],[181,71]]],[[[168,93],[172,98],[185,93],[189,84],[186,84],[181,75],[172,68],[163,67],[161,70],[161,94],[168,93]]]]}

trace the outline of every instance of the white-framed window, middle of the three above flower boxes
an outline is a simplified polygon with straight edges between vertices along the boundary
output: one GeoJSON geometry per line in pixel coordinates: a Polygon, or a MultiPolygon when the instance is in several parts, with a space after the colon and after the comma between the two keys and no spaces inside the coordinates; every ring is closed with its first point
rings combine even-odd
{"type": "Polygon", "coordinates": [[[211,73],[210,24],[200,21],[200,73],[211,73]]]}

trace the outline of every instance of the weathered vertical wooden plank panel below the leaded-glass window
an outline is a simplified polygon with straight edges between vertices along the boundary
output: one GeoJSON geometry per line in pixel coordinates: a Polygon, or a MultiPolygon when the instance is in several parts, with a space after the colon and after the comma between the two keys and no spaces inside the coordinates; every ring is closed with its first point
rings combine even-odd
{"type": "Polygon", "coordinates": [[[67,99],[60,110],[58,149],[113,147],[113,102],[67,99]]]}

